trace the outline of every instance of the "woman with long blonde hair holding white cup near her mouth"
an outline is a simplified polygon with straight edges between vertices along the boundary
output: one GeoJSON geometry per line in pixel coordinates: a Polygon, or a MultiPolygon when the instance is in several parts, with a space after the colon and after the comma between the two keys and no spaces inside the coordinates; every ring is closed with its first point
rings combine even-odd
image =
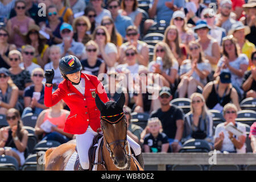
{"type": "Polygon", "coordinates": [[[148,64],[148,69],[150,72],[159,73],[174,86],[179,64],[167,43],[158,42],[155,45],[153,61],[148,64]]]}

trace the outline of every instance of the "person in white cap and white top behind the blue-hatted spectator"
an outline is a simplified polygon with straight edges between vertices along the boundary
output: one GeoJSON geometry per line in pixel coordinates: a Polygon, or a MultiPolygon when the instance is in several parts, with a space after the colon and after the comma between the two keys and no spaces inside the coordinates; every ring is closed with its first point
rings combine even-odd
{"type": "Polygon", "coordinates": [[[212,38],[217,40],[218,46],[221,46],[222,39],[225,38],[226,36],[226,31],[224,28],[218,27],[214,24],[216,19],[216,14],[214,14],[213,9],[210,9],[210,8],[204,9],[201,14],[201,19],[207,21],[207,24],[210,27],[208,34],[212,36],[212,38]]]}

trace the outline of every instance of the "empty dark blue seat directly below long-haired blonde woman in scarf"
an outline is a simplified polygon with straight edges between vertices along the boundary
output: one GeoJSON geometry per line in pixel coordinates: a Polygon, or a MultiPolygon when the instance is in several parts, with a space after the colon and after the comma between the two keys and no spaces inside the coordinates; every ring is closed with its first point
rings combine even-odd
{"type": "Polygon", "coordinates": [[[211,148],[209,143],[205,140],[201,139],[189,139],[183,143],[180,151],[181,153],[184,152],[209,152],[211,148]]]}

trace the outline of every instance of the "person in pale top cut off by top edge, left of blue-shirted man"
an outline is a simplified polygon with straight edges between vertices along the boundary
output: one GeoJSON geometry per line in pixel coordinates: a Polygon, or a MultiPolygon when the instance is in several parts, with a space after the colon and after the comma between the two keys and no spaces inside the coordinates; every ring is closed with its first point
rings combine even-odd
{"type": "Polygon", "coordinates": [[[98,1],[90,0],[90,3],[92,4],[94,10],[96,11],[96,15],[97,15],[95,18],[96,27],[100,26],[101,20],[104,16],[111,17],[110,11],[102,8],[102,4],[104,3],[103,0],[98,0],[98,1]]]}

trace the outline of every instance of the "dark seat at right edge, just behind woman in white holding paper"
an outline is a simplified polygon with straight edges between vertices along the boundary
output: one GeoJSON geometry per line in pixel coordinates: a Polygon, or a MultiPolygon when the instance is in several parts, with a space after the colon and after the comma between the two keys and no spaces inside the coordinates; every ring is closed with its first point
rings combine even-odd
{"type": "Polygon", "coordinates": [[[237,112],[236,121],[245,123],[245,124],[251,126],[256,121],[256,111],[240,110],[237,112]]]}

